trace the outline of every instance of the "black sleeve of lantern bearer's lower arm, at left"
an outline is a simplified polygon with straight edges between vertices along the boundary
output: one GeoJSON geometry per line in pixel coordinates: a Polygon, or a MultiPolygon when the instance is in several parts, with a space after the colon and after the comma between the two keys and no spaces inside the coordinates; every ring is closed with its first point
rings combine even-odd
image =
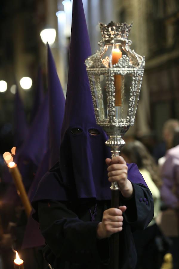
{"type": "Polygon", "coordinates": [[[108,263],[108,239],[98,240],[99,222],[84,222],[58,201],[38,202],[41,233],[57,259],[73,263],[108,263]],[[99,251],[98,251],[99,250],[99,251]]]}

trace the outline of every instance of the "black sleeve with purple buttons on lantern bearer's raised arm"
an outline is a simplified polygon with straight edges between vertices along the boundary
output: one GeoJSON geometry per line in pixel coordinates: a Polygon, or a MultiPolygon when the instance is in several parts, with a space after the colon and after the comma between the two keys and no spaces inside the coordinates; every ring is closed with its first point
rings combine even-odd
{"type": "Polygon", "coordinates": [[[121,205],[127,207],[123,215],[132,231],[143,230],[154,216],[152,193],[143,184],[132,183],[132,186],[134,190],[132,198],[126,199],[120,196],[121,205]]]}

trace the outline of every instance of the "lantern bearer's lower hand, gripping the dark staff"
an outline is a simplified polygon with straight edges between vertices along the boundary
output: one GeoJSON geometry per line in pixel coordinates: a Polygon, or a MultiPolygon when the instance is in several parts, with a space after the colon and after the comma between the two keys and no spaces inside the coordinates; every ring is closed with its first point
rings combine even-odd
{"type": "Polygon", "coordinates": [[[121,206],[119,208],[109,208],[103,212],[103,220],[98,224],[97,227],[98,239],[104,239],[111,236],[113,233],[122,231],[122,213],[126,209],[126,206],[121,206]]]}

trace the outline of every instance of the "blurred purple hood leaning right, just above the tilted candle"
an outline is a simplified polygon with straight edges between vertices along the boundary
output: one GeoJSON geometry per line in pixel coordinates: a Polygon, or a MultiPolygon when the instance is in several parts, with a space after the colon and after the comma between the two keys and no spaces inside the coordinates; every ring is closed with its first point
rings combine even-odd
{"type": "Polygon", "coordinates": [[[44,98],[29,134],[16,156],[24,185],[28,190],[48,145],[48,96],[44,98]]]}

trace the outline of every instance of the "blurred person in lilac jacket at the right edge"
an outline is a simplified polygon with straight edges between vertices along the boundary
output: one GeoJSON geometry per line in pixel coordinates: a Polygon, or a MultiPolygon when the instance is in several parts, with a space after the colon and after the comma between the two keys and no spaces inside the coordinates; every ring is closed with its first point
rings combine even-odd
{"type": "Polygon", "coordinates": [[[161,167],[161,198],[168,210],[163,212],[163,230],[172,240],[173,269],[179,268],[179,128],[175,129],[172,148],[166,152],[161,167]]]}

